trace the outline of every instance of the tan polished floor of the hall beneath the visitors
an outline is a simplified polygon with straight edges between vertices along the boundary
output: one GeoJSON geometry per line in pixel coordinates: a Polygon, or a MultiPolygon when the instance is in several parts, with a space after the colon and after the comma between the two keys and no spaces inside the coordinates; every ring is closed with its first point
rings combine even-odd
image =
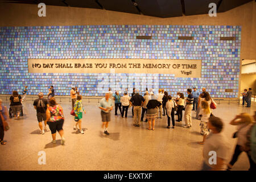
{"type": "MultiPolygon", "coordinates": [[[[8,105],[7,103],[4,103],[8,105]]],[[[175,129],[166,129],[167,117],[156,119],[155,131],[132,126],[131,109],[128,118],[114,115],[109,125],[109,136],[101,129],[101,115],[98,103],[84,103],[86,114],[82,119],[85,134],[73,130],[71,103],[61,102],[64,109],[65,146],[51,143],[51,132],[40,134],[36,111],[31,101],[24,104],[24,117],[10,119],[10,130],[5,133],[5,146],[0,145],[1,170],[200,170],[203,162],[203,146],[197,144],[202,139],[199,120],[192,111],[192,129],[181,127],[176,122],[175,129]],[[38,152],[46,152],[46,165],[38,164],[38,152]]],[[[8,106],[9,107],[9,106],[8,106]]],[[[232,157],[237,139],[232,138],[236,127],[228,123],[238,113],[251,115],[256,109],[241,105],[220,104],[213,114],[225,122],[224,133],[228,137],[232,157]]],[[[119,112],[119,111],[118,111],[119,112]]],[[[175,116],[176,119],[176,116],[175,116]]],[[[183,119],[184,121],[184,119],[183,119]]],[[[247,170],[249,160],[245,153],[238,158],[233,170],[247,170]]]]}

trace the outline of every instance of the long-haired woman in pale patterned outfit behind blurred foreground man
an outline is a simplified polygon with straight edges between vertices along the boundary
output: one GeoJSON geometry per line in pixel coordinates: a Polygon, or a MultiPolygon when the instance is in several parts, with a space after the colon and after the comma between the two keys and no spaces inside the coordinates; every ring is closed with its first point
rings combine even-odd
{"type": "Polygon", "coordinates": [[[205,100],[202,100],[201,101],[201,110],[200,110],[200,117],[201,117],[201,123],[200,123],[200,126],[201,126],[201,134],[204,135],[203,137],[203,142],[199,142],[199,144],[204,144],[205,142],[205,138],[207,137],[207,135],[209,135],[209,128],[208,128],[208,119],[210,117],[210,106],[208,104],[207,101],[205,100]]]}

